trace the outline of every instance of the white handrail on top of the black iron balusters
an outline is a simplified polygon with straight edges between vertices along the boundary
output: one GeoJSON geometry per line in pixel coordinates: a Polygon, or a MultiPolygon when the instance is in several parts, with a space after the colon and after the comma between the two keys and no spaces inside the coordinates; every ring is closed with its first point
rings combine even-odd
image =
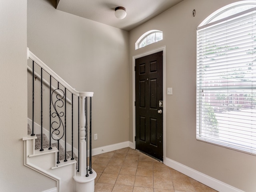
{"type": "Polygon", "coordinates": [[[56,74],[51,68],[49,68],[44,62],[42,62],[37,56],[35,56],[28,48],[28,57],[34,60],[40,66],[43,68],[48,74],[50,74],[54,79],[56,79],[60,84],[62,84],[64,87],[66,87],[71,93],[73,93],[76,96],[86,96],[86,97],[93,97],[93,92],[78,92],[74,88],[72,88],[66,81],[64,81],[58,74],[56,74]]]}

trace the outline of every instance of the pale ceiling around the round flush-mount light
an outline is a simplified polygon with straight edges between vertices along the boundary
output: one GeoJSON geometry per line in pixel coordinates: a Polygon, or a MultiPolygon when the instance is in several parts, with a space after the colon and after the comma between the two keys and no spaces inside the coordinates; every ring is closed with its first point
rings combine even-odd
{"type": "Polygon", "coordinates": [[[179,2],[182,0],[59,0],[57,9],[129,31],[179,2]],[[122,20],[114,15],[118,6],[126,8],[122,20]]]}

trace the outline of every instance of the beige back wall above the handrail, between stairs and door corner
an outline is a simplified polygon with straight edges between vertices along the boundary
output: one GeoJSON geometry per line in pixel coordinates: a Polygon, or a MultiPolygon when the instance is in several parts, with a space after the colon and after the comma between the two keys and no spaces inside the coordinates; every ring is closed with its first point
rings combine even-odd
{"type": "Polygon", "coordinates": [[[78,91],[92,91],[92,147],[129,140],[129,33],[28,0],[28,47],[78,91]]]}

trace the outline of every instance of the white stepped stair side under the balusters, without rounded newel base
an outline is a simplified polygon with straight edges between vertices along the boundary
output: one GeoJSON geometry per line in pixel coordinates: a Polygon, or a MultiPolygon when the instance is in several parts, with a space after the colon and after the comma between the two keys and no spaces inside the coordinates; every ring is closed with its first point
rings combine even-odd
{"type": "Polygon", "coordinates": [[[24,166],[35,170],[56,181],[57,192],[74,191],[74,179],[76,176],[76,160],[68,159],[67,162],[60,160],[57,164],[58,149],[45,148],[44,151],[34,150],[36,136],[22,138],[24,141],[24,166]]]}

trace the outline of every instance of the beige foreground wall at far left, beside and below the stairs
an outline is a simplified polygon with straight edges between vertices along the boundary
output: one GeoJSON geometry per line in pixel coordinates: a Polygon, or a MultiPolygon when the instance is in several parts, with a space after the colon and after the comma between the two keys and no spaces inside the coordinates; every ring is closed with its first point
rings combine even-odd
{"type": "Polygon", "coordinates": [[[55,182],[23,165],[22,138],[27,136],[27,0],[0,1],[0,29],[0,191],[43,191],[53,188],[55,182]]]}

